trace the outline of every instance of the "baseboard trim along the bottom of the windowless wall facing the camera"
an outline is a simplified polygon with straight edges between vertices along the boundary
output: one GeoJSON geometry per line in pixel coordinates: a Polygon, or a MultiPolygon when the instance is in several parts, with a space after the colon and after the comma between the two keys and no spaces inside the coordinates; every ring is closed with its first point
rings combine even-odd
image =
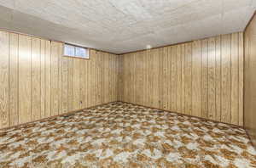
{"type": "MultiPolygon", "coordinates": [[[[119,101],[119,102],[123,102],[125,104],[133,104],[133,103],[125,102],[125,101],[119,101]]],[[[139,105],[139,106],[143,106],[145,108],[150,108],[150,109],[157,109],[157,110],[167,111],[167,112],[170,112],[170,113],[175,113],[177,115],[185,115],[185,116],[189,116],[189,117],[194,117],[194,118],[197,118],[197,119],[200,119],[200,120],[207,120],[207,121],[211,121],[211,122],[214,122],[214,123],[222,123],[222,124],[230,125],[230,126],[233,126],[233,127],[239,127],[239,128],[242,128],[242,129],[245,130],[244,126],[238,126],[238,125],[235,125],[235,124],[230,124],[230,123],[226,123],[226,122],[222,122],[222,121],[218,121],[218,120],[206,119],[206,118],[202,118],[202,117],[195,116],[195,115],[187,115],[187,114],[183,114],[183,113],[178,113],[176,111],[171,111],[171,110],[166,110],[166,109],[158,109],[158,108],[145,106],[145,105],[141,105],[141,104],[134,104],[134,105],[139,105]]]]}

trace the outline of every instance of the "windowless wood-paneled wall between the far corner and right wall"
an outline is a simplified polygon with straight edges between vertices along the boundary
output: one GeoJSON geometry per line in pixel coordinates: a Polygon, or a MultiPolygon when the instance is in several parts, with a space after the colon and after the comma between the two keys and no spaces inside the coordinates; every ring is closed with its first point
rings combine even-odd
{"type": "Polygon", "coordinates": [[[243,33],[119,56],[119,100],[243,125],[243,33]]]}

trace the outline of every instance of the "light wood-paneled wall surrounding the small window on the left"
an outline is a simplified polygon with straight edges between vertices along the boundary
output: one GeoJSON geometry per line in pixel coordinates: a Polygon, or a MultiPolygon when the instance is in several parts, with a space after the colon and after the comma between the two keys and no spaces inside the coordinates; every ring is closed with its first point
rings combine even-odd
{"type": "Polygon", "coordinates": [[[0,31],[0,128],[117,100],[117,55],[62,51],[61,42],[0,31]]]}

